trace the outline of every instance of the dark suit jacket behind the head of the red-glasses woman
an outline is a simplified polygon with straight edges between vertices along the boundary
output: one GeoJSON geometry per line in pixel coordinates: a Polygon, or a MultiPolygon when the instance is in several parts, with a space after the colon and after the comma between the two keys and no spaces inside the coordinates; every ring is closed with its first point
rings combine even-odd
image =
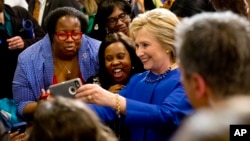
{"type": "MultiPolygon", "coordinates": [[[[33,15],[33,10],[35,7],[36,0],[30,0],[28,11],[33,15]]],[[[42,27],[45,30],[44,19],[48,15],[48,13],[58,7],[69,6],[74,7],[78,10],[81,10],[80,4],[76,0],[46,0],[43,18],[42,18],[42,27]]]]}

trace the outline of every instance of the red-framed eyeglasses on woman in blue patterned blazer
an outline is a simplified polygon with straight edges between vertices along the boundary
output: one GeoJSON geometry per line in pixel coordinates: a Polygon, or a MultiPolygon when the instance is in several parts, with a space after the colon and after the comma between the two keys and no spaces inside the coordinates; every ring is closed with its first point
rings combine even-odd
{"type": "Polygon", "coordinates": [[[69,36],[75,41],[75,40],[80,40],[82,38],[82,32],[70,32],[70,33],[65,33],[65,32],[56,32],[56,37],[60,41],[65,41],[69,38],[69,36]]]}

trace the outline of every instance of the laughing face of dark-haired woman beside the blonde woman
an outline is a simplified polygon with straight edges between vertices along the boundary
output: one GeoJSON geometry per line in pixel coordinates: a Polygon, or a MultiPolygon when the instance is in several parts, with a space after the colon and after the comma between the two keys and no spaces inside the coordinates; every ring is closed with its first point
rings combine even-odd
{"type": "Polygon", "coordinates": [[[131,60],[129,52],[121,42],[110,44],[104,52],[107,72],[116,83],[123,83],[129,79],[131,60]]]}

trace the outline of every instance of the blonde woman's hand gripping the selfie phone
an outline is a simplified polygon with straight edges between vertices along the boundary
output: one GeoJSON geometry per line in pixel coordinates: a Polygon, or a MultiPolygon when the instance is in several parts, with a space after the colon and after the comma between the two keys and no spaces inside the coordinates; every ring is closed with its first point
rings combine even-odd
{"type": "Polygon", "coordinates": [[[86,103],[95,103],[101,106],[113,106],[115,103],[115,94],[103,89],[98,84],[82,85],[78,88],[75,97],[86,103]]]}

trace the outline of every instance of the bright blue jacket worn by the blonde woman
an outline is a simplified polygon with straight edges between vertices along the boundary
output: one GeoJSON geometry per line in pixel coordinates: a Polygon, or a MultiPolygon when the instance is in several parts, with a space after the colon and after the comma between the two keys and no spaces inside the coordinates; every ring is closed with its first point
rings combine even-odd
{"type": "MultiPolygon", "coordinates": [[[[167,141],[182,119],[193,111],[181,85],[178,69],[155,83],[145,81],[149,73],[136,74],[119,92],[126,98],[126,115],[121,119],[131,129],[131,141],[167,141]]],[[[152,73],[150,76],[157,78],[152,73]]],[[[117,118],[114,109],[97,105],[90,107],[103,122],[117,118]]]]}

